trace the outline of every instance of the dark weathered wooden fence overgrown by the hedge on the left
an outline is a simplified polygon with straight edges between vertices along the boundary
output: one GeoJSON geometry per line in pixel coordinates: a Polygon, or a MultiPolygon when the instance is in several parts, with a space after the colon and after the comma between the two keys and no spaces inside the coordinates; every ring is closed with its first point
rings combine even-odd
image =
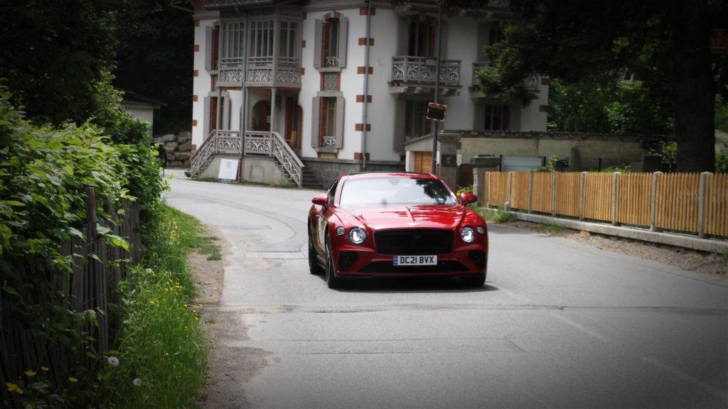
{"type": "MultiPolygon", "coordinates": [[[[130,263],[136,263],[141,258],[141,236],[138,230],[139,207],[136,202],[124,204],[124,207],[115,210],[110,202],[105,203],[105,211],[111,216],[114,223],[98,219],[96,215],[95,194],[92,188],[87,189],[87,223],[83,233],[87,240],[77,237],[64,243],[60,249],[61,255],[72,256],[74,260],[73,272],[68,277],[52,275],[44,269],[40,262],[31,265],[15,266],[16,278],[24,284],[25,297],[40,306],[44,317],[50,317],[49,312],[55,306],[70,307],[76,312],[87,310],[99,311],[98,325],[87,322],[83,328],[90,337],[89,341],[79,349],[74,356],[69,356],[58,345],[48,344],[28,324],[17,319],[19,311],[12,305],[7,297],[0,293],[0,398],[2,402],[11,402],[5,382],[15,382],[23,378],[25,370],[38,370],[42,365],[48,368],[47,376],[55,384],[63,384],[73,362],[83,362],[87,369],[98,368],[103,365],[100,358],[92,359],[88,352],[94,352],[101,357],[113,345],[119,335],[122,322],[116,314],[108,314],[109,303],[120,303],[115,299],[117,295],[112,291],[114,284],[127,275],[130,263]],[[129,250],[109,245],[97,231],[99,226],[111,229],[111,234],[124,237],[129,242],[129,250]],[[98,256],[99,260],[90,257],[98,256]],[[42,279],[47,277],[47,279],[42,279]],[[39,287],[40,281],[50,282],[50,288],[39,287]],[[27,286],[26,286],[27,285],[27,286]],[[59,293],[68,295],[60,296],[59,293]]],[[[3,406],[4,407],[4,406],[3,406]]]]}

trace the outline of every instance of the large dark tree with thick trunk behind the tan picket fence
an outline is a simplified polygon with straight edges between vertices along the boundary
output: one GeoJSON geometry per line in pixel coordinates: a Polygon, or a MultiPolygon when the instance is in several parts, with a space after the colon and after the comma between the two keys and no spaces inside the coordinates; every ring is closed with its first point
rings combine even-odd
{"type": "MultiPolygon", "coordinates": [[[[473,8],[474,0],[444,0],[473,8]]],[[[714,170],[716,84],[711,28],[728,21],[726,0],[510,0],[516,17],[505,40],[488,47],[493,71],[479,84],[530,103],[523,79],[534,73],[563,84],[605,84],[632,71],[674,110],[676,162],[682,172],[714,170]]],[[[665,118],[666,121],[669,118],[665,118]]]]}

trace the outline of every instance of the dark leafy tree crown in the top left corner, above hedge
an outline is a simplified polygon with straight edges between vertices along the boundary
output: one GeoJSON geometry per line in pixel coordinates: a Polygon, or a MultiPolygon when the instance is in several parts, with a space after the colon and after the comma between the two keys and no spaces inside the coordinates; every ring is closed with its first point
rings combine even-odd
{"type": "Polygon", "coordinates": [[[29,119],[82,124],[114,62],[113,0],[0,2],[0,78],[29,119]]]}

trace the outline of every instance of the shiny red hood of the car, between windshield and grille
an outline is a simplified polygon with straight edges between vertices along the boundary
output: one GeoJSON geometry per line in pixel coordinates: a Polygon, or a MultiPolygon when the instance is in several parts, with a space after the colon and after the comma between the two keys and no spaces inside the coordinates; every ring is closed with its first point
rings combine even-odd
{"type": "Polygon", "coordinates": [[[349,213],[371,229],[455,229],[465,210],[462,206],[358,206],[349,207],[349,213]]]}

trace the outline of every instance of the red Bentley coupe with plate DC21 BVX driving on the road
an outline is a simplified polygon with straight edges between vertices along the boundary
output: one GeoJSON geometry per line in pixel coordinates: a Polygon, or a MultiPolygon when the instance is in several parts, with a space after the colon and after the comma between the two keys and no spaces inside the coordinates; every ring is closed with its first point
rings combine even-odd
{"type": "Polygon", "coordinates": [[[309,269],[329,287],[345,277],[454,276],[482,286],[486,222],[445,180],[409,172],[339,177],[309,210],[309,269]]]}

